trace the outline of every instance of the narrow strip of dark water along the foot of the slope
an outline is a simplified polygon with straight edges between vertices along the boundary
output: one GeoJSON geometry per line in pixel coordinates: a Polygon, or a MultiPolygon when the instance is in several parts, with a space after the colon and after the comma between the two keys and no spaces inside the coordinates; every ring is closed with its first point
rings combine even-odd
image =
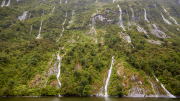
{"type": "Polygon", "coordinates": [[[9,97],[0,101],[180,101],[180,98],[9,97]]]}

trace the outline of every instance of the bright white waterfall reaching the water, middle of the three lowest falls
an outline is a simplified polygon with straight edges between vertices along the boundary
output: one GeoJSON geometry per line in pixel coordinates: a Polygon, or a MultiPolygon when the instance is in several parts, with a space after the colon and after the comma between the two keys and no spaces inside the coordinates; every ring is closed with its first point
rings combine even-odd
{"type": "Polygon", "coordinates": [[[114,56],[112,57],[112,61],[111,61],[111,67],[108,71],[108,77],[106,79],[106,85],[105,85],[105,97],[108,97],[108,94],[107,94],[107,90],[108,90],[108,84],[109,84],[109,80],[110,80],[110,77],[111,77],[111,73],[112,73],[112,66],[113,66],[113,63],[114,62],[114,56]]]}

